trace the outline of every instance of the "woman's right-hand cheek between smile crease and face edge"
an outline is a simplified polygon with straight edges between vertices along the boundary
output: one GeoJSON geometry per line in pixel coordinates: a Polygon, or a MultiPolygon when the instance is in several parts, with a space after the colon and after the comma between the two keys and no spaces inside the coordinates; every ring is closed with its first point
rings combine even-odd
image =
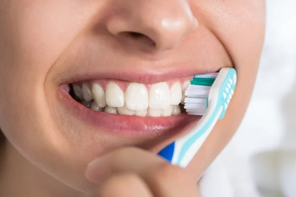
{"type": "Polygon", "coordinates": [[[258,66],[265,33],[263,0],[201,0],[192,7],[200,24],[224,45],[237,69],[258,66]]]}

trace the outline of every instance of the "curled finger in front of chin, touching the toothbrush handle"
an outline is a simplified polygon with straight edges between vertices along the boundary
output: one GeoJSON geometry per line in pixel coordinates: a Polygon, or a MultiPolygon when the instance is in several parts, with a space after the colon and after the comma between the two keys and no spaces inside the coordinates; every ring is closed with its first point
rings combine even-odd
{"type": "Polygon", "coordinates": [[[138,174],[155,197],[198,195],[195,179],[185,169],[137,148],[120,149],[92,162],[86,177],[101,184],[107,177],[122,172],[138,174]]]}

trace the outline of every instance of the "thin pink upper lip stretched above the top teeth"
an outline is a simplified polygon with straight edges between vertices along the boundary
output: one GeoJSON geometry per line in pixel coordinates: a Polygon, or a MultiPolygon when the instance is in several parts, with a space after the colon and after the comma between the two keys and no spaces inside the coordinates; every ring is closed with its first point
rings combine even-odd
{"type": "Polygon", "coordinates": [[[182,66],[173,70],[143,70],[143,71],[117,71],[117,72],[85,72],[74,73],[68,75],[68,78],[61,80],[60,84],[71,84],[74,82],[99,80],[99,79],[117,79],[123,81],[131,81],[143,84],[153,84],[171,79],[192,76],[195,74],[205,74],[216,72],[217,70],[209,70],[208,68],[184,69],[182,66]]]}

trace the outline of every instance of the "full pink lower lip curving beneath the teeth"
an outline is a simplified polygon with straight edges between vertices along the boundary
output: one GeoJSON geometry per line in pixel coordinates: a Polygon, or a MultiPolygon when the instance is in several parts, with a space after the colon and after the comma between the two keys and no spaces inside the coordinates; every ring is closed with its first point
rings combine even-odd
{"type": "Polygon", "coordinates": [[[164,136],[189,131],[201,118],[181,113],[170,117],[141,117],[109,114],[89,109],[74,100],[64,89],[58,89],[58,99],[70,113],[94,128],[129,136],[164,136]]]}

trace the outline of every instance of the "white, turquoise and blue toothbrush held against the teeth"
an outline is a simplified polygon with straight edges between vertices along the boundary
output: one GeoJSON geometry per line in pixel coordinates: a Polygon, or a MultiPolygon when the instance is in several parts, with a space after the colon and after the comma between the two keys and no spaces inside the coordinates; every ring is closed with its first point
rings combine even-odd
{"type": "Polygon", "coordinates": [[[203,117],[191,131],[165,147],[158,155],[171,164],[185,168],[217,121],[224,117],[234,94],[236,81],[234,68],[222,68],[219,73],[195,75],[185,91],[185,109],[190,115],[203,117]]]}

